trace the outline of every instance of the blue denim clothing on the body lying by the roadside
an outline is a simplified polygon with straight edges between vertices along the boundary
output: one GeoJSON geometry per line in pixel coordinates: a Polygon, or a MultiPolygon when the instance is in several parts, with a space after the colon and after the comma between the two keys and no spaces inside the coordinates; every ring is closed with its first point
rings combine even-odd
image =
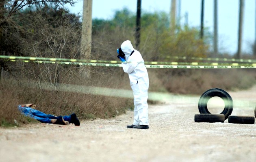
{"type": "MultiPolygon", "coordinates": [[[[37,119],[38,121],[40,121],[42,123],[52,123],[51,119],[56,119],[56,117],[54,115],[45,114],[41,111],[32,109],[31,107],[22,107],[21,105],[19,105],[18,109],[20,110],[20,112],[23,115],[31,117],[33,119],[37,119]]],[[[71,117],[70,117],[70,115],[69,116],[63,116],[63,119],[70,123],[71,117]]]]}

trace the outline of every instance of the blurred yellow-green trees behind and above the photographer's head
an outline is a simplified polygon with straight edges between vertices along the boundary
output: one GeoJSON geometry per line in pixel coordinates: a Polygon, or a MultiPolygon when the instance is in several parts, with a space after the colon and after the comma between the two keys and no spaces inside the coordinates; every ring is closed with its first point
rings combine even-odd
{"type": "MultiPolygon", "coordinates": [[[[116,47],[124,39],[135,42],[135,22],[135,13],[131,13],[128,9],[116,11],[111,20],[93,19],[93,37],[96,38],[99,35],[102,39],[106,38],[105,41],[117,42],[116,47]]],[[[143,13],[140,41],[140,52],[143,58],[157,61],[166,60],[167,56],[206,57],[210,46],[208,39],[210,33],[207,28],[203,40],[197,28],[189,26],[176,28],[179,32],[175,35],[170,34],[169,15],[165,12],[143,13]]],[[[98,37],[97,40],[99,41],[100,38],[98,37]]]]}

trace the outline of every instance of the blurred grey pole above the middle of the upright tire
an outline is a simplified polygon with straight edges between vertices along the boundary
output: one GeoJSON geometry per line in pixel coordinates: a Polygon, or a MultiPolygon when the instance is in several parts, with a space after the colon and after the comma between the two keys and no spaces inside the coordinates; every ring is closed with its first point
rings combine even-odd
{"type": "Polygon", "coordinates": [[[218,0],[214,0],[214,57],[218,55],[218,0]]]}

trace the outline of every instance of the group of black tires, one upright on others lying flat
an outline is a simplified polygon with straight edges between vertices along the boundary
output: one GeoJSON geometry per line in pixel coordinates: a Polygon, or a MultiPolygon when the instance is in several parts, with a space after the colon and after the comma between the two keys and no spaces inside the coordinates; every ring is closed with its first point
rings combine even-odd
{"type": "Polygon", "coordinates": [[[219,88],[207,90],[202,94],[198,102],[198,110],[200,114],[195,114],[195,122],[223,123],[226,119],[228,119],[229,123],[234,124],[254,124],[256,117],[256,107],[254,110],[254,116],[231,115],[233,111],[233,100],[226,91],[219,88]],[[224,110],[220,114],[212,114],[207,109],[207,103],[212,97],[219,97],[225,103],[224,110]]]}

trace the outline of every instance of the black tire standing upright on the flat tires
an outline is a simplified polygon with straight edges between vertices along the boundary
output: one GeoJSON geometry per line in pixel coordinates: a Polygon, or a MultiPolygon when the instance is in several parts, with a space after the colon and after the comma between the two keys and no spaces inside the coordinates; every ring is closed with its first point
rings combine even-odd
{"type": "Polygon", "coordinates": [[[228,119],[228,116],[231,115],[233,111],[233,100],[228,92],[219,88],[207,90],[202,94],[198,102],[199,112],[201,114],[211,114],[207,109],[207,103],[212,97],[220,97],[224,101],[225,107],[220,114],[223,114],[225,116],[225,120],[228,119]]]}

